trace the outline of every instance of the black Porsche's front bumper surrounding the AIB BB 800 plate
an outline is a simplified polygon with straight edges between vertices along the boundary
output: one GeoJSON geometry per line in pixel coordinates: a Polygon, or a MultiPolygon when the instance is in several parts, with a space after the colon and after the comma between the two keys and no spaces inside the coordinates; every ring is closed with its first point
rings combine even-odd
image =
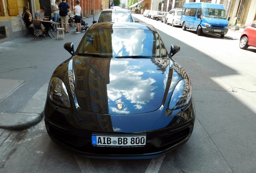
{"type": "MultiPolygon", "coordinates": [[[[140,131],[134,133],[125,132],[101,132],[105,135],[140,135],[140,133],[147,135],[147,145],[145,147],[127,147],[127,148],[111,148],[111,147],[95,147],[91,143],[92,133],[97,133],[94,130],[85,129],[87,126],[78,127],[74,124],[70,112],[64,109],[55,109],[51,115],[45,115],[44,121],[47,133],[50,138],[58,145],[68,149],[75,155],[87,158],[99,159],[151,159],[161,157],[174,149],[182,146],[190,138],[195,122],[195,112],[193,101],[184,109],[180,115],[190,117],[187,121],[183,121],[179,116],[175,116],[171,123],[162,129],[152,131],[140,131]],[[172,123],[174,122],[174,123],[172,123]],[[175,125],[176,122],[176,125],[175,125]]],[[[51,107],[52,103],[47,101],[48,109],[54,110],[51,107]]],[[[177,114],[178,115],[178,114],[177,114]]],[[[95,121],[97,121],[95,116],[95,121]]],[[[81,123],[84,124],[83,117],[80,117],[81,123]]],[[[93,118],[94,119],[94,118],[93,118]]],[[[88,119],[88,121],[93,121],[88,119]]]]}

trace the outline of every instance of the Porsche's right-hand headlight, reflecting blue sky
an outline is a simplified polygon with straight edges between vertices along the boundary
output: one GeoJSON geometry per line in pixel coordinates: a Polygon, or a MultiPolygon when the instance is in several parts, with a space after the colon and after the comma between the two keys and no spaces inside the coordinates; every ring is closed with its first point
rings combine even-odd
{"type": "Polygon", "coordinates": [[[187,78],[180,80],[176,85],[169,103],[169,109],[179,109],[182,108],[191,101],[191,88],[190,82],[187,78]]]}

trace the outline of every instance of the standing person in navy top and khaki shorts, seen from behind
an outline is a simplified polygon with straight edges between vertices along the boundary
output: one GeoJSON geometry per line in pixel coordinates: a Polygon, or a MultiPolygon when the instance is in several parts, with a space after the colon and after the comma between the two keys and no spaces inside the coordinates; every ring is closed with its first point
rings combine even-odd
{"type": "Polygon", "coordinates": [[[59,10],[61,27],[64,28],[63,26],[65,23],[65,30],[66,33],[68,33],[68,12],[70,11],[70,7],[68,3],[66,3],[66,0],[62,0],[62,2],[59,4],[59,10]]]}

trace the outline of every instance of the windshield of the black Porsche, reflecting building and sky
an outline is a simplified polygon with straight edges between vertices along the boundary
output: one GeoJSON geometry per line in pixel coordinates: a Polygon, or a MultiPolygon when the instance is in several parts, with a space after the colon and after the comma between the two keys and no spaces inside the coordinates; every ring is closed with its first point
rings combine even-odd
{"type": "Polygon", "coordinates": [[[83,36],[76,54],[98,54],[104,57],[166,57],[167,51],[157,32],[143,29],[102,28],[83,36]]]}

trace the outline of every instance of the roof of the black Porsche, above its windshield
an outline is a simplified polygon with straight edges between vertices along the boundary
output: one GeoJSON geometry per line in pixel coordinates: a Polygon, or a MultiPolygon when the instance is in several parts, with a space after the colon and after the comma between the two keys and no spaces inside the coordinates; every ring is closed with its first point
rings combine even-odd
{"type": "Polygon", "coordinates": [[[129,28],[129,29],[141,29],[141,30],[151,30],[157,32],[151,24],[138,23],[138,22],[100,22],[93,24],[89,30],[97,29],[113,29],[113,28],[129,28]]]}

